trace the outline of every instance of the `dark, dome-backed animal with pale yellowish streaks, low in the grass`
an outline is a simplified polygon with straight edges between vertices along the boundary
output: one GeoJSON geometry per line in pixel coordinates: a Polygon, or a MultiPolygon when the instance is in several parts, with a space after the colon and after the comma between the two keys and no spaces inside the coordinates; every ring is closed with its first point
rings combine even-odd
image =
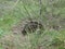
{"type": "Polygon", "coordinates": [[[27,24],[25,24],[23,30],[22,30],[22,34],[23,35],[26,35],[27,33],[34,33],[35,30],[37,30],[37,28],[43,28],[42,24],[41,23],[38,23],[38,22],[28,22],[27,24]]]}

